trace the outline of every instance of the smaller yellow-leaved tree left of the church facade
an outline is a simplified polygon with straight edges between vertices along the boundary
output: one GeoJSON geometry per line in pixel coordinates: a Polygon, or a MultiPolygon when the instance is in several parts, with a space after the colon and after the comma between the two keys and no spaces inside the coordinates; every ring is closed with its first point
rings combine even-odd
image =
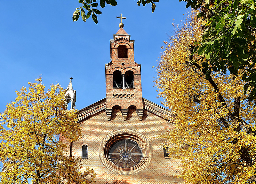
{"type": "Polygon", "coordinates": [[[41,81],[39,77],[28,82],[28,90],[16,91],[15,101],[0,114],[1,183],[94,182],[94,171],[82,173],[79,159],[67,157],[67,146],[59,140],[60,135],[69,142],[82,137],[77,111],[66,109],[65,90],[59,84],[44,91],[41,81]]]}

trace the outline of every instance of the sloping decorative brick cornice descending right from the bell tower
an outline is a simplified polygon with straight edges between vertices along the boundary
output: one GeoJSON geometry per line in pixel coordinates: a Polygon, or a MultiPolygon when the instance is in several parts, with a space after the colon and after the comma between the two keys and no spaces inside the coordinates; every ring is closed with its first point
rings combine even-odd
{"type": "Polygon", "coordinates": [[[143,98],[143,107],[147,111],[149,111],[163,119],[166,119],[170,122],[174,122],[175,115],[171,111],[168,111],[167,109],[161,107],[160,105],[150,102],[149,100],[147,100],[145,98],[143,98]]]}

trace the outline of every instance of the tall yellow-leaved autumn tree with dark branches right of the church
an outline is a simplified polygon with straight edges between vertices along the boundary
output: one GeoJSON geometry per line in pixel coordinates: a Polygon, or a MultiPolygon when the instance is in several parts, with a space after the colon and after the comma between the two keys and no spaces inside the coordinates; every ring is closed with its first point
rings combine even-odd
{"type": "Polygon", "coordinates": [[[252,89],[244,94],[242,69],[236,75],[207,74],[205,68],[214,67],[209,60],[195,53],[200,63],[192,62],[205,23],[197,14],[192,11],[176,25],[162,48],[156,87],[176,114],[175,129],[162,137],[168,140],[169,155],[181,159],[179,177],[187,183],[255,183],[256,105],[247,99],[252,89]]]}

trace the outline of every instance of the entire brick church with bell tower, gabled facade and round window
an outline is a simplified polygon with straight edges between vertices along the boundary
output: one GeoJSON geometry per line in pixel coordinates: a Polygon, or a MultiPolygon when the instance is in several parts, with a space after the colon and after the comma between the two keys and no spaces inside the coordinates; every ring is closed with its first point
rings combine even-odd
{"type": "MultiPolygon", "coordinates": [[[[122,14],[121,14],[122,17],[122,14]]],[[[69,155],[92,168],[99,184],[174,184],[180,162],[168,157],[156,138],[173,129],[172,113],[142,97],[141,65],[134,61],[134,40],[120,29],[110,40],[111,62],[105,64],[106,98],[78,113],[83,138],[69,143],[69,155]]],[[[76,91],[67,88],[71,108],[76,91]]]]}

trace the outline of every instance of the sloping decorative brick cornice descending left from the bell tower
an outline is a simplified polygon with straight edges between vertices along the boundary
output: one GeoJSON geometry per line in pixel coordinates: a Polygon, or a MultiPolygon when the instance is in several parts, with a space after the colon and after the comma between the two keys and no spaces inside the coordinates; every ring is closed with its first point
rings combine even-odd
{"type": "Polygon", "coordinates": [[[91,104],[91,105],[79,110],[77,122],[79,122],[85,118],[88,118],[88,117],[92,116],[93,114],[96,114],[100,111],[106,110],[106,108],[107,108],[106,102],[107,102],[107,99],[104,98],[94,104],[91,104]]]}

